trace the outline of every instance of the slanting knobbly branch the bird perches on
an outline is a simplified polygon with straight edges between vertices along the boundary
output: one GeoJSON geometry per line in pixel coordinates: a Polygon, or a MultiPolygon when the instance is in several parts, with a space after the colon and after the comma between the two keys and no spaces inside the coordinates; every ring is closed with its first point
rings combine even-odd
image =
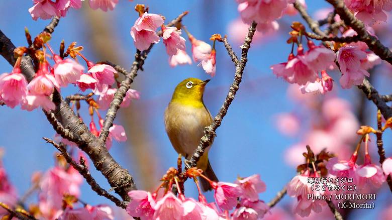
{"type": "MultiPolygon", "coordinates": [[[[234,81],[233,84],[230,86],[229,93],[226,96],[225,102],[223,103],[221,109],[219,110],[218,115],[214,118],[214,122],[209,126],[205,128],[205,135],[202,137],[200,140],[199,146],[195,149],[195,151],[192,154],[192,157],[189,159],[187,162],[187,168],[189,167],[195,167],[196,163],[199,161],[200,157],[203,156],[204,151],[208,146],[210,146],[211,141],[213,140],[215,136],[215,131],[217,128],[221,125],[223,118],[226,116],[227,111],[229,109],[229,106],[231,102],[234,100],[234,96],[238,89],[240,88],[239,85],[242,80],[242,74],[244,72],[244,68],[247,62],[247,55],[248,55],[248,50],[250,48],[250,43],[252,42],[252,38],[254,35],[254,32],[256,30],[257,24],[255,22],[252,23],[252,25],[249,27],[248,34],[245,37],[244,44],[241,46],[242,49],[242,56],[241,56],[241,61],[236,65],[236,72],[234,75],[234,81]]],[[[185,171],[186,171],[185,169],[185,171]]],[[[184,172],[182,172],[181,176],[183,176],[184,172]]]]}

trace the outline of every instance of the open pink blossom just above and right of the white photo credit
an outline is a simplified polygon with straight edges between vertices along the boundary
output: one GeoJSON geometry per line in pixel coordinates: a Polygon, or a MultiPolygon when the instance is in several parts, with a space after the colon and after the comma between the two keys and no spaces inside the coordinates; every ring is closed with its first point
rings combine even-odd
{"type": "Polygon", "coordinates": [[[365,155],[363,165],[356,169],[358,175],[358,187],[364,188],[369,185],[373,185],[379,188],[385,181],[384,173],[380,166],[371,163],[370,156],[365,155]]]}

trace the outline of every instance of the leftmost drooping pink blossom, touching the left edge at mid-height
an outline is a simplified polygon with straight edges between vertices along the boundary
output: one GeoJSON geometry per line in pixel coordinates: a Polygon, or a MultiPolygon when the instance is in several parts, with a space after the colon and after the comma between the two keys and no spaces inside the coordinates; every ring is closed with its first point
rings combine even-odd
{"type": "Polygon", "coordinates": [[[9,106],[14,108],[20,104],[27,93],[27,80],[19,67],[11,73],[0,75],[0,96],[9,106]]]}

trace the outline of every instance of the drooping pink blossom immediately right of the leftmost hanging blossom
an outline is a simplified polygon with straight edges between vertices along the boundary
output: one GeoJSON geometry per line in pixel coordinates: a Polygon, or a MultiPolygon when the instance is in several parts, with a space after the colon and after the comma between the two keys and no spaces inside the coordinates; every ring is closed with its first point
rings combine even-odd
{"type": "Polygon", "coordinates": [[[48,67],[43,63],[40,63],[34,79],[29,82],[27,88],[30,94],[33,95],[49,96],[55,88],[60,91],[60,85],[57,83],[53,74],[48,72],[48,67]]]}

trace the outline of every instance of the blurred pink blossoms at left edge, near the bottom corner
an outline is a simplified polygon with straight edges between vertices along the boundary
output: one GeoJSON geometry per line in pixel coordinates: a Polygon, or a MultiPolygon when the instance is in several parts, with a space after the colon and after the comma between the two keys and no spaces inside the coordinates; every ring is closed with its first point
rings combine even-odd
{"type": "MultiPolygon", "coordinates": [[[[18,201],[18,195],[15,187],[8,180],[6,169],[1,161],[3,151],[3,148],[0,148],[0,201],[10,207],[14,207],[18,201]]],[[[0,207],[0,218],[7,214],[9,214],[8,211],[0,207]]]]}

